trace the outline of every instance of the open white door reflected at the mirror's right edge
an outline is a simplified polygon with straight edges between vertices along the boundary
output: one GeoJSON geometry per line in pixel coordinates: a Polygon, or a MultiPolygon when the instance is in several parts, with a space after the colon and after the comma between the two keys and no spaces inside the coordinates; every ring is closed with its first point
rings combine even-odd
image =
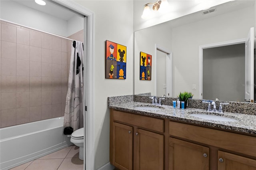
{"type": "Polygon", "coordinates": [[[245,100],[254,102],[254,28],[245,42],[245,100]]]}

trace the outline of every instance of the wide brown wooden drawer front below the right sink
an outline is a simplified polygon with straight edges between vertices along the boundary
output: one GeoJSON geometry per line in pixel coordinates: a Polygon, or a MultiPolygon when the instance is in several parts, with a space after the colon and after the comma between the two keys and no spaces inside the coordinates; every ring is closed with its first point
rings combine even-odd
{"type": "Polygon", "coordinates": [[[172,121],[169,122],[169,134],[234,152],[256,156],[256,137],[172,121]]]}

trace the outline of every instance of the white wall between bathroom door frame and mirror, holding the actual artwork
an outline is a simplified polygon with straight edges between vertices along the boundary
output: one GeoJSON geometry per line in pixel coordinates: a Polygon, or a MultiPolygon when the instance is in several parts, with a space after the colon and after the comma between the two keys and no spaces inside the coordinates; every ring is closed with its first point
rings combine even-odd
{"type": "MultiPolygon", "coordinates": [[[[133,1],[76,1],[94,12],[95,169],[109,162],[107,97],[133,93],[133,1]],[[106,40],[127,47],[126,79],[105,79],[106,40]]],[[[90,155],[87,155],[90,156],[90,155]]]]}

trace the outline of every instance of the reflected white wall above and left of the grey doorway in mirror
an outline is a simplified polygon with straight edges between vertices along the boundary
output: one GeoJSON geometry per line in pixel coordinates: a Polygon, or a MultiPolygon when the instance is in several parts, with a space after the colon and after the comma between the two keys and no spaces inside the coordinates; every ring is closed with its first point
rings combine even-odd
{"type": "Polygon", "coordinates": [[[210,43],[246,38],[254,26],[254,7],[222,14],[172,29],[173,85],[176,96],[180,91],[192,91],[198,98],[198,47],[210,43]]]}

